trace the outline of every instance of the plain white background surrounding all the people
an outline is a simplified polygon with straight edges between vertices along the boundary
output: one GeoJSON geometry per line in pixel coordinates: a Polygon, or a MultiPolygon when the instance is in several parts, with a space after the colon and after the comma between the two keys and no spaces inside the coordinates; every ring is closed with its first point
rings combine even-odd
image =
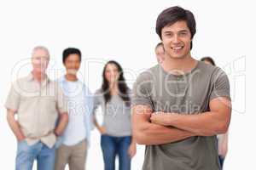
{"type": "MultiPolygon", "coordinates": [[[[103,64],[115,59],[125,69],[131,87],[140,71],[155,65],[154,46],[160,41],[154,31],[155,20],[163,9],[174,5],[188,8],[195,14],[197,32],[192,50],[195,59],[212,56],[230,77],[234,111],[224,168],[255,168],[253,52],[256,29],[253,15],[256,12],[250,2],[253,1],[1,0],[1,169],[15,169],[16,151],[16,140],[7,124],[3,105],[11,82],[31,70],[27,61],[34,46],[49,48],[49,71],[63,71],[61,53],[64,48],[80,48],[84,61],[87,60],[83,62],[80,77],[84,77],[92,91],[101,86],[103,64]]],[[[51,73],[50,77],[55,78],[55,73],[51,73]]],[[[99,137],[94,130],[87,169],[103,169],[99,137]]],[[[138,146],[132,169],[141,169],[143,152],[144,147],[138,146]]]]}

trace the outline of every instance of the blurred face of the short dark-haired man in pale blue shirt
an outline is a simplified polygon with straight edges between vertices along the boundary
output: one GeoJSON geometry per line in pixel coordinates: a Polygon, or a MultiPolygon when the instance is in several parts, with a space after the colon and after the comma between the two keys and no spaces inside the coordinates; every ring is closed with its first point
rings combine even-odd
{"type": "Polygon", "coordinates": [[[78,54],[70,54],[67,56],[65,60],[65,67],[67,70],[67,74],[73,74],[76,75],[80,68],[80,58],[78,54]]]}

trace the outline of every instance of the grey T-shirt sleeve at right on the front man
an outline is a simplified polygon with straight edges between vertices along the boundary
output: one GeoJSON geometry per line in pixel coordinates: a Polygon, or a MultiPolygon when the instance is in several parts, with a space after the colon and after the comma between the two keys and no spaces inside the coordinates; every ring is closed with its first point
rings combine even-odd
{"type": "Polygon", "coordinates": [[[210,100],[218,97],[226,97],[230,99],[229,78],[226,73],[219,68],[213,73],[210,100]]]}

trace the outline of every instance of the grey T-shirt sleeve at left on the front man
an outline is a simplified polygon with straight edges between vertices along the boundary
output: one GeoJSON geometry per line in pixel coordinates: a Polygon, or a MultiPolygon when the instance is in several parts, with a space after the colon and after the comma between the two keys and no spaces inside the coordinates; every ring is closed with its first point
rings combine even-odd
{"type": "Polygon", "coordinates": [[[152,78],[148,72],[143,72],[137,77],[133,84],[131,105],[148,105],[153,109],[153,101],[151,99],[152,78]]]}

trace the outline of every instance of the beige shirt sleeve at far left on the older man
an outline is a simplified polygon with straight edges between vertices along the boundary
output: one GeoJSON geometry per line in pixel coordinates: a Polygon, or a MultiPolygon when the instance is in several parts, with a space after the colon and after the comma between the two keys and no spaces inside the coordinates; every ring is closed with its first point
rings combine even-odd
{"type": "Polygon", "coordinates": [[[18,111],[20,105],[20,94],[17,91],[17,88],[15,88],[15,85],[16,83],[14,83],[9,90],[9,94],[5,102],[5,107],[13,111],[18,111]]]}

